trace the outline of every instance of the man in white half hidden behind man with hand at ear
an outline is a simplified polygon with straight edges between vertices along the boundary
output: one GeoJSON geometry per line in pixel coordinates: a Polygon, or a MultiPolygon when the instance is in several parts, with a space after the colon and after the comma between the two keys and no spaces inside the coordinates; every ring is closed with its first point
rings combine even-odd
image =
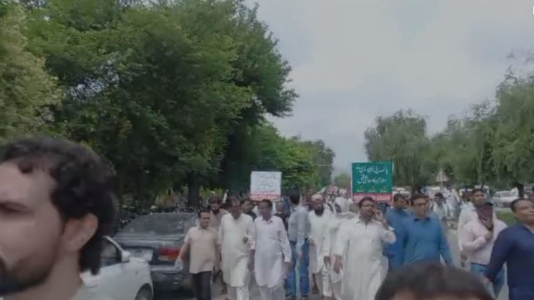
{"type": "MultiPolygon", "coordinates": [[[[334,272],[334,245],[337,242],[337,233],[339,227],[343,226],[349,219],[355,217],[353,213],[348,211],[348,200],[338,197],[334,201],[334,209],[336,214],[330,218],[330,222],[327,226],[327,233],[325,234],[325,240],[323,242],[323,257],[325,258],[325,267],[328,269],[328,275],[332,283],[332,294],[323,293],[325,297],[331,297],[334,300],[341,300],[341,292],[343,291],[343,270],[339,273],[334,272]]],[[[346,262],[347,253],[341,255],[341,265],[346,262]]]]}

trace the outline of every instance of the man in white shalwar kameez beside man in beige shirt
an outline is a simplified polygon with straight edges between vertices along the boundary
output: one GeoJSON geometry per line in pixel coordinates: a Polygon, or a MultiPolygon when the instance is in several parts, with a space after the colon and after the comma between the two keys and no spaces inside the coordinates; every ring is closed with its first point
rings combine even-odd
{"type": "Polygon", "coordinates": [[[228,287],[230,300],[250,300],[250,268],[254,243],[254,223],[250,215],[241,213],[241,202],[229,201],[229,214],[220,220],[219,241],[221,242],[221,269],[228,287]]]}

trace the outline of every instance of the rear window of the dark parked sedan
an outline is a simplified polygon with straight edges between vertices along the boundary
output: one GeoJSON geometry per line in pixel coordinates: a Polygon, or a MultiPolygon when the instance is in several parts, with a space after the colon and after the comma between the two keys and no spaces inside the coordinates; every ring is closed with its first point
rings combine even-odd
{"type": "Polygon", "coordinates": [[[120,233],[142,233],[150,235],[184,234],[186,227],[191,223],[191,218],[189,214],[179,213],[145,215],[134,219],[120,233]]]}

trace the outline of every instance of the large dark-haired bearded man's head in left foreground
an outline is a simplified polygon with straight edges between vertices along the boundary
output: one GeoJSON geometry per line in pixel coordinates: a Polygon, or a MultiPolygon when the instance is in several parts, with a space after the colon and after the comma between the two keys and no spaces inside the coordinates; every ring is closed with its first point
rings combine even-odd
{"type": "Polygon", "coordinates": [[[111,173],[87,149],[50,138],[0,149],[0,297],[101,300],[80,273],[97,274],[115,222],[111,173]]]}

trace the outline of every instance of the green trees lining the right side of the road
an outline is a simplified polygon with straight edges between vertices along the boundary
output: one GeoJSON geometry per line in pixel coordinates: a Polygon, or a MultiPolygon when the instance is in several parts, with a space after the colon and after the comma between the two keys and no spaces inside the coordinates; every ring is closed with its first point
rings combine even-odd
{"type": "Polygon", "coordinates": [[[450,117],[428,135],[426,118],[413,110],[378,117],[365,132],[369,160],[391,160],[396,185],[435,183],[442,169],[460,185],[515,186],[534,181],[534,76],[509,71],[493,100],[450,117]]]}

